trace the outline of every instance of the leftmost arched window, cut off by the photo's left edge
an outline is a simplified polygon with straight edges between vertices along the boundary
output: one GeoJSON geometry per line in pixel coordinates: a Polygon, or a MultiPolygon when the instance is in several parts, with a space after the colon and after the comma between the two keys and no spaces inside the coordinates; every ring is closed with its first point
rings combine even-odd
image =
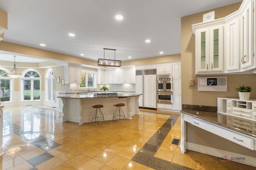
{"type": "Polygon", "coordinates": [[[0,69],[0,102],[10,102],[12,78],[7,75],[8,72],[0,69]]]}

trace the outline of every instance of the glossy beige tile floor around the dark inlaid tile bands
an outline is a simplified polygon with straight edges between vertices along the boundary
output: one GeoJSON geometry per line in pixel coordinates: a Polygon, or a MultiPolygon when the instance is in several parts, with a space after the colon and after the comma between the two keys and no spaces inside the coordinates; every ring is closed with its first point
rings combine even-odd
{"type": "MultiPolygon", "coordinates": [[[[0,169],[151,170],[132,158],[172,114],[179,113],[140,109],[140,115],[126,119],[126,122],[105,121],[101,126],[98,122],[92,126],[90,123],[60,122],[61,114],[48,106],[4,108],[4,154],[0,156],[0,169]],[[48,140],[45,150],[31,142],[40,135],[48,140]],[[58,147],[48,149],[47,146],[52,146],[50,141],[58,143],[58,147]],[[42,161],[37,157],[42,154],[50,157],[42,161]],[[29,163],[33,158],[42,163],[33,166],[29,163]]],[[[179,117],[154,154],[160,161],[177,165],[166,169],[256,169],[238,162],[221,162],[214,156],[190,150],[182,154],[178,145],[171,144],[174,138],[180,137],[179,117]]]]}

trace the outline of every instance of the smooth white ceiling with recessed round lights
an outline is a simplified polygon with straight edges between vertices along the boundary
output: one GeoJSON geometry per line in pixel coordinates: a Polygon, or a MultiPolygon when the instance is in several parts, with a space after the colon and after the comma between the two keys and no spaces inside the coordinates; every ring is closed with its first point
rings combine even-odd
{"type": "MultiPolygon", "coordinates": [[[[8,13],[2,41],[93,61],[104,58],[103,48],[116,49],[116,60],[122,61],[180,54],[181,17],[240,1],[0,0],[0,9],[8,13]],[[117,14],[124,19],[116,20],[117,14]]],[[[0,60],[13,61],[5,55],[1,51],[0,60]]],[[[32,62],[29,57],[16,62],[32,62]]],[[[114,59],[113,51],[105,51],[105,58],[114,59]]]]}

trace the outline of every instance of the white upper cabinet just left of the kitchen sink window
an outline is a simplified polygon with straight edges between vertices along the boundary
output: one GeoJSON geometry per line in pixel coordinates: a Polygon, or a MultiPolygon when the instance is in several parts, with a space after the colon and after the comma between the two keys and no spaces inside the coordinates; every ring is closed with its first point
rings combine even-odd
{"type": "Polygon", "coordinates": [[[75,64],[67,64],[64,66],[65,71],[65,83],[81,83],[82,82],[82,66],[75,64]]]}

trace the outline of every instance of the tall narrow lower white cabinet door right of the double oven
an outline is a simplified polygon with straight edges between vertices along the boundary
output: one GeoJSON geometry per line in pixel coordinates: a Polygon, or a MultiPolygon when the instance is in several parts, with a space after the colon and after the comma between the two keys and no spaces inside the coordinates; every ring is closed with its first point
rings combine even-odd
{"type": "Polygon", "coordinates": [[[173,109],[181,109],[181,80],[172,80],[173,81],[173,109]]]}

